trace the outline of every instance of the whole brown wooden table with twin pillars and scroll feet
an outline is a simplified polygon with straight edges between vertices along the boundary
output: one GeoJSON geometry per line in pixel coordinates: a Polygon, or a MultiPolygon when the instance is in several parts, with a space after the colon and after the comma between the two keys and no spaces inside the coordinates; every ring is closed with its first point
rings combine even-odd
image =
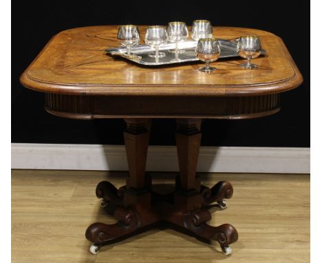
{"type": "MultiPolygon", "coordinates": [[[[217,240],[226,254],[238,239],[230,224],[212,227],[208,205],[226,207],[233,195],[229,182],[211,189],[196,175],[203,118],[257,118],[280,109],[280,94],[302,82],[286,46],[278,36],[247,28],[214,28],[220,39],[245,34],[260,37],[265,56],[254,59],[256,70],[246,70],[238,58],[216,61],[217,71],[198,71],[200,63],[167,67],[142,67],[107,56],[116,47],[114,25],[74,28],[54,36],[21,75],[21,83],[45,93],[47,112],[65,118],[124,118],[129,176],[124,187],[100,182],[96,196],[118,220],[116,224],[91,224],[85,235],[90,251],[126,238],[158,222],[201,240],[217,240]],[[154,191],[145,173],[151,118],[175,118],[180,173],[175,191],[154,191]]],[[[140,27],[145,32],[145,27],[140,27]]]]}

